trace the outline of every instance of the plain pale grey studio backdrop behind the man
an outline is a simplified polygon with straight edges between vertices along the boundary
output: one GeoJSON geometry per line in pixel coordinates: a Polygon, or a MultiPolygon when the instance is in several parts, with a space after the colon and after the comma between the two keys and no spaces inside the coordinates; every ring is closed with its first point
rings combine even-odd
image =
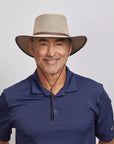
{"type": "MultiPolygon", "coordinates": [[[[35,17],[43,13],[64,14],[72,36],[87,36],[85,47],[69,57],[67,65],[102,83],[114,107],[114,0],[0,2],[0,93],[35,71],[34,59],[18,48],[15,37],[32,35],[35,17]]],[[[11,144],[14,137],[13,130],[11,144]]]]}

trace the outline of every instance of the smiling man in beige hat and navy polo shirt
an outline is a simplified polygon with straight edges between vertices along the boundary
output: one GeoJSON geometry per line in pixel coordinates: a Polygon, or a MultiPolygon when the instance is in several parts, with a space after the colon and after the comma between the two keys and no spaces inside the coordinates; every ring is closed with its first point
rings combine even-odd
{"type": "Polygon", "coordinates": [[[36,18],[33,36],[18,36],[18,46],[34,57],[37,70],[5,89],[0,97],[0,144],[16,129],[16,144],[113,144],[111,101],[102,84],[74,74],[70,55],[86,43],[70,37],[66,18],[36,18]]]}

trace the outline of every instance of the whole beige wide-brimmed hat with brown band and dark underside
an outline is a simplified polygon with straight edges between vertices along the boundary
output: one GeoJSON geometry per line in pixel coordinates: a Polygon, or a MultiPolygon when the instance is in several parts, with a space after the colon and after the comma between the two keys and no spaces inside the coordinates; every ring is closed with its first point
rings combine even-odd
{"type": "Polygon", "coordinates": [[[15,38],[17,45],[29,56],[30,40],[33,37],[70,38],[72,41],[71,55],[80,50],[86,43],[85,36],[70,36],[66,17],[60,14],[43,14],[35,19],[33,35],[20,35],[15,38]]]}

